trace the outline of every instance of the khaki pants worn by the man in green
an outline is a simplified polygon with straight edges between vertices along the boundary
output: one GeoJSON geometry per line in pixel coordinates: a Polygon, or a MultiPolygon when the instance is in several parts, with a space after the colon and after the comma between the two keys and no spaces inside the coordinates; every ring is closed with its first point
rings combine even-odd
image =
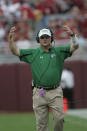
{"type": "Polygon", "coordinates": [[[54,131],[63,131],[63,92],[61,87],[45,90],[40,96],[40,89],[33,90],[33,109],[36,116],[37,131],[49,131],[49,108],[53,113],[54,131]]]}

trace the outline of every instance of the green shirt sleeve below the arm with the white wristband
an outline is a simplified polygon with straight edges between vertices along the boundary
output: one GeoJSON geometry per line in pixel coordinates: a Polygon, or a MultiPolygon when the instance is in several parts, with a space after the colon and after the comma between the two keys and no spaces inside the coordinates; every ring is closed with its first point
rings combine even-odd
{"type": "Polygon", "coordinates": [[[72,56],[72,53],[70,52],[70,45],[59,46],[59,47],[56,48],[56,50],[60,54],[62,59],[66,59],[66,58],[72,56]]]}

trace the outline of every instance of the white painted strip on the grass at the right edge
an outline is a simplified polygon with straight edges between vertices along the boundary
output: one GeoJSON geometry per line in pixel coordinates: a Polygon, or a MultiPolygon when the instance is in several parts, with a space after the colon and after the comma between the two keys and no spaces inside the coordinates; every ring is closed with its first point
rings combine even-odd
{"type": "Polygon", "coordinates": [[[73,109],[68,110],[66,114],[72,115],[72,116],[78,116],[80,118],[87,119],[87,109],[73,109]]]}

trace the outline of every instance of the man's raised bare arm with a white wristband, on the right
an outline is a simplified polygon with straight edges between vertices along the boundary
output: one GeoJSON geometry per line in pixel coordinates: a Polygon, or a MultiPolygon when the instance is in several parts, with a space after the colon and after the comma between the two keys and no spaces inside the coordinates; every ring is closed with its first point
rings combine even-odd
{"type": "Polygon", "coordinates": [[[64,30],[71,37],[70,52],[74,52],[79,47],[79,44],[77,43],[77,35],[75,33],[73,33],[73,31],[68,26],[64,26],[64,30]]]}

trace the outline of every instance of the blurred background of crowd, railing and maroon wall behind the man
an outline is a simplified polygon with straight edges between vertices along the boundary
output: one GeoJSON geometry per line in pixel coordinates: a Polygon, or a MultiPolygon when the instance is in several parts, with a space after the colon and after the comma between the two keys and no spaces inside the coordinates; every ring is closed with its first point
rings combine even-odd
{"type": "MultiPolygon", "coordinates": [[[[53,30],[53,46],[70,44],[62,26],[78,34],[79,49],[65,61],[74,74],[74,109],[87,108],[87,0],[0,0],[0,112],[32,111],[32,75],[9,49],[8,33],[16,26],[18,48],[37,48],[37,32],[53,30]]],[[[69,81],[69,80],[68,80],[69,81]]],[[[68,101],[67,101],[68,104],[68,101]]]]}

